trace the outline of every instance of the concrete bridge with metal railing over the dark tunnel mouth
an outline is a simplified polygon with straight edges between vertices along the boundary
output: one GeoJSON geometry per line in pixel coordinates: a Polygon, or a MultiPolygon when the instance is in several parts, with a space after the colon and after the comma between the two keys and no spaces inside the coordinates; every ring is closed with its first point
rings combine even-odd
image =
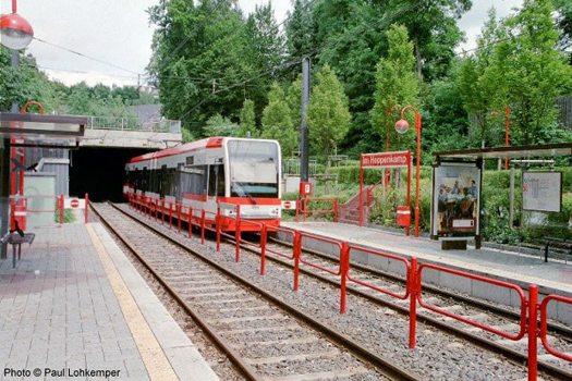
{"type": "Polygon", "coordinates": [[[39,172],[53,175],[58,194],[88,193],[96,201],[119,201],[130,158],[182,143],[180,121],[86,118],[85,134],[80,142],[52,140],[54,148],[26,148],[26,168],[36,164],[39,172]]]}

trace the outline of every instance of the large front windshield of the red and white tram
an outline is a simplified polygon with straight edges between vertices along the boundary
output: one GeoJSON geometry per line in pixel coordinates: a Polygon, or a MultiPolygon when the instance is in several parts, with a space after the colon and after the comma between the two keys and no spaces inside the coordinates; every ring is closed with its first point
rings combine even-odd
{"type": "Polygon", "coordinates": [[[278,145],[273,142],[230,140],[231,197],[278,198],[278,145]]]}

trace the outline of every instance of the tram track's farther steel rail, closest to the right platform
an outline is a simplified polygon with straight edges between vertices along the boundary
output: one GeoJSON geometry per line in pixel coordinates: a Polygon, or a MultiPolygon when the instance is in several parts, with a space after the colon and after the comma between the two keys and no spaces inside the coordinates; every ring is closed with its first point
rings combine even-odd
{"type": "MultiPolygon", "coordinates": [[[[272,241],[273,243],[276,243],[278,245],[284,245],[284,246],[292,247],[291,243],[284,242],[282,239],[278,239],[278,238],[270,237],[270,236],[268,236],[268,239],[272,241]]],[[[328,254],[320,253],[320,251],[317,251],[317,250],[314,250],[314,249],[309,249],[309,248],[302,248],[302,251],[315,255],[315,256],[320,257],[320,258],[322,258],[325,260],[330,260],[330,261],[337,261],[338,260],[338,258],[334,258],[334,257],[332,257],[332,256],[330,256],[328,254]]],[[[399,275],[391,274],[391,273],[388,273],[388,272],[385,272],[385,271],[381,271],[381,270],[378,270],[378,269],[373,269],[370,267],[367,267],[367,266],[364,266],[364,265],[361,265],[361,263],[352,263],[352,269],[357,269],[357,270],[361,270],[361,271],[369,272],[369,273],[372,273],[374,275],[381,276],[381,278],[385,278],[387,280],[395,281],[395,282],[399,282],[399,283],[401,283],[403,285],[405,285],[405,282],[406,282],[405,279],[403,279],[403,278],[401,278],[399,275]]],[[[519,320],[521,318],[521,315],[519,312],[515,312],[515,311],[510,310],[508,308],[504,308],[504,307],[501,307],[501,306],[497,306],[497,305],[494,305],[494,304],[489,304],[489,303],[486,303],[484,300],[478,300],[478,299],[475,299],[475,298],[473,298],[471,296],[459,295],[459,294],[455,294],[455,293],[453,293],[451,291],[448,291],[448,290],[442,290],[442,288],[438,288],[436,286],[424,284],[423,285],[423,291],[424,291],[424,293],[425,292],[434,293],[434,294],[437,294],[437,295],[441,295],[443,297],[449,297],[449,298],[455,299],[458,302],[464,303],[464,304],[466,304],[468,306],[472,306],[472,307],[475,307],[475,308],[480,308],[480,309],[483,309],[485,311],[494,311],[497,315],[500,315],[500,316],[502,316],[504,318],[511,318],[511,319],[516,319],[516,320],[519,320]]],[[[548,322],[548,328],[550,329],[550,331],[562,335],[563,340],[572,342],[572,328],[569,328],[569,327],[565,327],[565,325],[562,325],[562,324],[558,324],[558,323],[553,323],[553,322],[548,322]]]]}

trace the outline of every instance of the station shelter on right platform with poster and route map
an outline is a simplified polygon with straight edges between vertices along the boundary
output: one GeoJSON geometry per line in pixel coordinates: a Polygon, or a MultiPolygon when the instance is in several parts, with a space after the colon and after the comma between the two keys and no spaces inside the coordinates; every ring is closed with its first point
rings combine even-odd
{"type": "Polygon", "coordinates": [[[495,192],[483,189],[486,159],[510,163],[510,226],[514,222],[516,169],[522,170],[521,214],[541,222],[547,213],[562,212],[563,172],[555,170],[556,161],[548,159],[560,158],[560,165],[570,165],[571,143],[465,149],[434,152],[434,156],[430,236],[441,242],[442,249],[466,249],[468,241],[480,248],[482,196],[495,192]]]}

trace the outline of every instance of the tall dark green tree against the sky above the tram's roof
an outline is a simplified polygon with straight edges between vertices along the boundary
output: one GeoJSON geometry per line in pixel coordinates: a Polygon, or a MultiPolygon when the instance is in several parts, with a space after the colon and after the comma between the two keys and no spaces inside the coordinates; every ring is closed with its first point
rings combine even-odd
{"type": "Polygon", "coordinates": [[[147,70],[165,115],[197,136],[216,113],[236,118],[250,88],[231,85],[256,71],[241,10],[227,0],[166,0],[148,12],[157,29],[147,70]]]}

